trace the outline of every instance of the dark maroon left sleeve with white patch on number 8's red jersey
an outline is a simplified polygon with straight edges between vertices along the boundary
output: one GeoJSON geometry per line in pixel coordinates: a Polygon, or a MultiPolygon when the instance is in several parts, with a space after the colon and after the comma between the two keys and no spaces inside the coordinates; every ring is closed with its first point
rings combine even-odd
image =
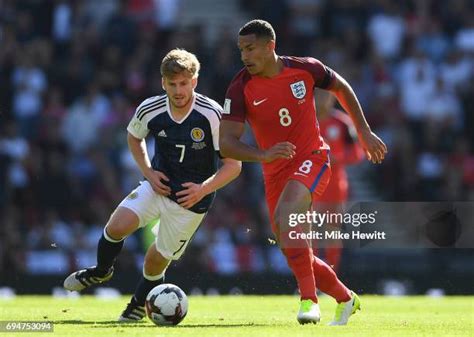
{"type": "Polygon", "coordinates": [[[238,75],[227,89],[222,119],[245,123],[246,113],[243,80],[238,75]]]}

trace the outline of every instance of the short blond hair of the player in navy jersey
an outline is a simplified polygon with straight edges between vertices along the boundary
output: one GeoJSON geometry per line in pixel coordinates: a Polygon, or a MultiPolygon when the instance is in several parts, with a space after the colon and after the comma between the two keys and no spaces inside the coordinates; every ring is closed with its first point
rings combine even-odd
{"type": "Polygon", "coordinates": [[[192,78],[199,76],[199,63],[196,55],[184,49],[171,50],[161,61],[160,72],[161,76],[172,78],[173,76],[182,73],[183,71],[189,73],[192,78]]]}

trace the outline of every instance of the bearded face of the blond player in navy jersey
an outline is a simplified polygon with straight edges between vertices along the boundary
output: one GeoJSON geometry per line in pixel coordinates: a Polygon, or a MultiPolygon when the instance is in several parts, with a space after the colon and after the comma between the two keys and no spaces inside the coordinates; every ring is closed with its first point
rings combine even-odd
{"type": "Polygon", "coordinates": [[[163,77],[162,83],[170,104],[179,109],[186,107],[191,102],[197,78],[192,78],[191,75],[182,72],[171,78],[163,77]]]}

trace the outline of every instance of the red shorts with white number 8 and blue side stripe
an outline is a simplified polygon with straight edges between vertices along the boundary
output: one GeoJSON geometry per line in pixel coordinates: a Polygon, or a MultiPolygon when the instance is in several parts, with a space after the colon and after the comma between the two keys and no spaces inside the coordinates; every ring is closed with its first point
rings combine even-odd
{"type": "Polygon", "coordinates": [[[283,189],[290,180],[297,180],[305,185],[311,192],[313,201],[319,200],[320,196],[326,190],[331,179],[331,165],[329,163],[329,151],[313,151],[306,158],[295,161],[284,171],[271,177],[265,177],[265,197],[267,200],[268,211],[270,212],[270,221],[272,230],[275,232],[275,223],[273,213],[275,212],[278,199],[283,189]]]}

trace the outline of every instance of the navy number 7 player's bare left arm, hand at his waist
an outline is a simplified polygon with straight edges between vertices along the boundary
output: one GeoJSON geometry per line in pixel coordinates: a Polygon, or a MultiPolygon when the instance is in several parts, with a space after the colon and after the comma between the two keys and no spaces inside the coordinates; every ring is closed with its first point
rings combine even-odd
{"type": "Polygon", "coordinates": [[[145,139],[136,138],[130,132],[127,134],[128,148],[132,153],[133,159],[137,163],[143,176],[148,180],[151,187],[156,193],[168,196],[171,193],[169,186],[165,185],[162,180],[169,181],[168,177],[159,171],[153,170],[146,150],[145,139]]]}

